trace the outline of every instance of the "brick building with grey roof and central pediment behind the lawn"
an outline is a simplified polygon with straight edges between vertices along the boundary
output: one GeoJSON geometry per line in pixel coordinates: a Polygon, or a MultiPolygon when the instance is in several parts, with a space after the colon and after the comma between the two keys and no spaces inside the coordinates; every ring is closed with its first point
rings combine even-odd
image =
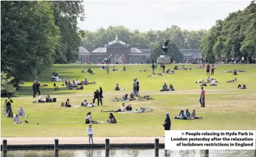
{"type": "Polygon", "coordinates": [[[122,42],[115,37],[115,40],[108,42],[104,48],[96,48],[89,52],[84,48],[83,43],[79,47],[79,61],[84,63],[100,64],[106,56],[110,56],[111,64],[119,62],[124,58],[124,64],[140,64],[146,62],[147,53],[140,51],[138,48],[132,48],[128,43],[122,42]]]}

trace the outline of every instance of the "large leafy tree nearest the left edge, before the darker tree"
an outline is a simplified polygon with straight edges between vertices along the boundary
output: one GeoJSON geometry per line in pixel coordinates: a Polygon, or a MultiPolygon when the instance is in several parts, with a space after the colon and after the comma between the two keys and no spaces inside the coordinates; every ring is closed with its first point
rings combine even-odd
{"type": "Polygon", "coordinates": [[[14,84],[53,64],[60,38],[52,8],[47,1],[1,1],[1,71],[14,84]]]}

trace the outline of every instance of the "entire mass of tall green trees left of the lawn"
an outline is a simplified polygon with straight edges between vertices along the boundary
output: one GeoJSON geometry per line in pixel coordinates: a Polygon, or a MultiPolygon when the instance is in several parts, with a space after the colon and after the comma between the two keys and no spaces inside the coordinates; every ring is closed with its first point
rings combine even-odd
{"type": "Polygon", "coordinates": [[[77,59],[82,2],[1,1],[1,71],[13,84],[35,79],[54,62],[77,59]]]}

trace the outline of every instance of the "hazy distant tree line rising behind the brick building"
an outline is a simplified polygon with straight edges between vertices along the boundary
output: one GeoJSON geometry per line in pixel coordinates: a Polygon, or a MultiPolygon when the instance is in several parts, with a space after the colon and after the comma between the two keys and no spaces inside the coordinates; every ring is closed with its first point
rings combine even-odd
{"type": "Polygon", "coordinates": [[[129,45],[147,45],[151,46],[156,42],[164,42],[170,39],[178,45],[180,49],[199,49],[201,39],[206,34],[206,30],[188,31],[181,30],[178,26],[171,26],[166,30],[150,30],[148,32],[139,32],[139,30],[130,30],[124,26],[109,26],[107,29],[97,29],[95,32],[84,31],[85,37],[82,38],[84,48],[93,51],[102,47],[106,42],[111,42],[118,34],[118,39],[127,42],[129,45]]]}

